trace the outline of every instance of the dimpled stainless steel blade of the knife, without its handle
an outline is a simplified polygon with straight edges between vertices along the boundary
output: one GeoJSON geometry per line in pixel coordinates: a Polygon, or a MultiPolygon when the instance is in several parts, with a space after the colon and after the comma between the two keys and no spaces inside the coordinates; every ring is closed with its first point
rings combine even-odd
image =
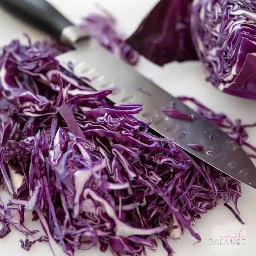
{"type": "Polygon", "coordinates": [[[108,96],[109,100],[116,104],[143,104],[143,111],[137,117],[145,122],[153,121],[150,128],[154,131],[166,138],[174,139],[174,143],[181,148],[218,170],[256,188],[256,168],[233,139],[180,100],[140,75],[124,61],[114,57],[96,41],[82,40],[78,43],[77,50],[61,54],[57,59],[66,68],[68,61],[72,61],[74,74],[90,78],[91,86],[97,91],[117,87],[118,89],[108,96]],[[138,90],[140,88],[152,96],[138,90]],[[171,101],[175,103],[176,109],[188,115],[196,115],[198,119],[189,122],[170,118],[161,109],[171,101]],[[210,134],[213,135],[213,140],[209,139],[210,134]],[[188,143],[200,144],[205,150],[195,151],[188,147],[188,143]],[[210,150],[213,156],[205,153],[210,150]]]}

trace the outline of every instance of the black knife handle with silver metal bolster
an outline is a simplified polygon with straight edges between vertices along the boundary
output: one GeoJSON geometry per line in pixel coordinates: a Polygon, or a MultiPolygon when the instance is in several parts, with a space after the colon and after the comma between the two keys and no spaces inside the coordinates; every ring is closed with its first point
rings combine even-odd
{"type": "Polygon", "coordinates": [[[79,39],[88,37],[45,0],[0,0],[0,6],[64,44],[74,46],[79,39]]]}

